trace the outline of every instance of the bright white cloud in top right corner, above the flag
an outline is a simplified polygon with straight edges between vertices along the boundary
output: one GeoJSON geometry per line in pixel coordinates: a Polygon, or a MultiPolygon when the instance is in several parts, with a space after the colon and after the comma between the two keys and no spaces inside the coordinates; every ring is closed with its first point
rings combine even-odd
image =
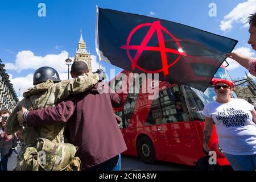
{"type": "MultiPolygon", "coordinates": [[[[246,2],[238,3],[238,5],[230,11],[228,15],[221,20],[220,29],[224,32],[230,31],[233,28],[233,23],[246,23],[247,17],[256,11],[256,0],[248,0],[246,2]]],[[[243,27],[248,27],[246,23],[243,27]]]]}

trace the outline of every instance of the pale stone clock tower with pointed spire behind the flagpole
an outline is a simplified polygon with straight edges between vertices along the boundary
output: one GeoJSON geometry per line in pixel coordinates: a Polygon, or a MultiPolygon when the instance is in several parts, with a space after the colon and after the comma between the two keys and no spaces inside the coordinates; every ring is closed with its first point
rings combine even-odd
{"type": "Polygon", "coordinates": [[[90,57],[90,53],[86,50],[84,39],[82,39],[82,30],[80,30],[80,40],[76,49],[74,61],[85,61],[88,64],[89,70],[92,71],[92,58],[90,57]]]}

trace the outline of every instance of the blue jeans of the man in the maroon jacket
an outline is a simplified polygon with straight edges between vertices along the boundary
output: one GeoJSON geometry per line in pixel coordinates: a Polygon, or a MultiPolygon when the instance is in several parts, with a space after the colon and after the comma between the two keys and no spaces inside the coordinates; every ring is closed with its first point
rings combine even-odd
{"type": "Polygon", "coordinates": [[[121,154],[97,166],[85,169],[86,171],[121,171],[121,154]]]}

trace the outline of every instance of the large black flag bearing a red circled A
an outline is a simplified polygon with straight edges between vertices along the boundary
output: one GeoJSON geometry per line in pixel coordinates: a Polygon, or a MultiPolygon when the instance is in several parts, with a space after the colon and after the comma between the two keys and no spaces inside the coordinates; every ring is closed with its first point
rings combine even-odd
{"type": "Polygon", "coordinates": [[[97,7],[100,60],[204,92],[237,40],[184,24],[97,7]]]}

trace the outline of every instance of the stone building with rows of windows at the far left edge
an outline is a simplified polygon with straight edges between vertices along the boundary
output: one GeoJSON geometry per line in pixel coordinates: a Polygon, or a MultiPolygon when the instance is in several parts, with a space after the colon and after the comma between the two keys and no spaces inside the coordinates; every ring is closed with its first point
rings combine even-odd
{"type": "Polygon", "coordinates": [[[18,101],[13,84],[6,73],[5,65],[0,59],[0,109],[7,109],[12,112],[18,101]]]}

